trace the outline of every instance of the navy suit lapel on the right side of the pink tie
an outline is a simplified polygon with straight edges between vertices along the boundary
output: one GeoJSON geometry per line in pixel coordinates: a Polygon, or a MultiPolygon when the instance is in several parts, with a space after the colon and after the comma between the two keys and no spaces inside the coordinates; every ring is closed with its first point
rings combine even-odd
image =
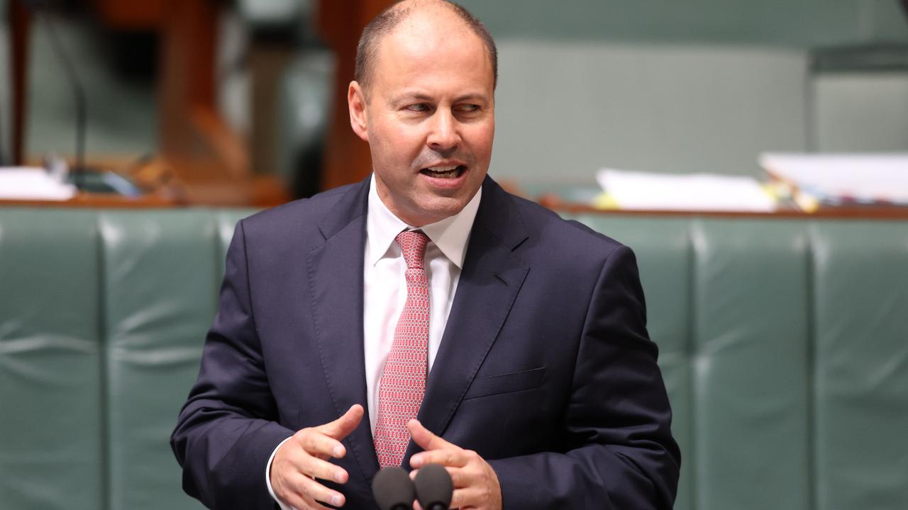
{"type": "MultiPolygon", "coordinates": [[[[419,421],[439,436],[498,338],[529,271],[513,253],[527,239],[513,199],[488,177],[482,193],[448,325],[419,408],[419,421]]],[[[416,451],[411,441],[404,466],[416,451]]]]}

